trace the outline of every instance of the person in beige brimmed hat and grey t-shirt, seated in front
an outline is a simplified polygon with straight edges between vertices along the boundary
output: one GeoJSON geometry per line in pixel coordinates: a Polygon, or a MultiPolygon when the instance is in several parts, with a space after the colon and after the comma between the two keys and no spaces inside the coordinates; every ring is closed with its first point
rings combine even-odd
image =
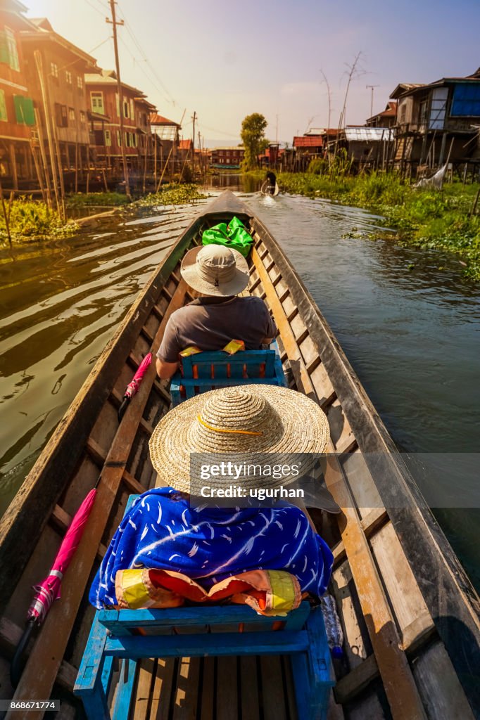
{"type": "Polygon", "coordinates": [[[200,297],[175,310],[166,323],[156,354],[156,372],[169,379],[179,366],[179,354],[194,346],[221,350],[232,339],[245,343],[246,350],[269,344],[277,328],[267,305],[259,297],[238,297],[249,283],[244,256],[221,245],[190,250],[180,269],[183,279],[200,297]]]}

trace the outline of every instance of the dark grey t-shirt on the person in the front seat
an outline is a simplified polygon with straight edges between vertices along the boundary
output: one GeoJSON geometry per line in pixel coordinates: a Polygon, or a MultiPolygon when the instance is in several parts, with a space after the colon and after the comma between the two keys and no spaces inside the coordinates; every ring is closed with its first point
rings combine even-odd
{"type": "Polygon", "coordinates": [[[231,340],[243,340],[246,350],[258,350],[263,338],[276,334],[267,305],[259,297],[198,297],[172,313],[156,356],[177,362],[185,348],[221,350],[231,340]]]}

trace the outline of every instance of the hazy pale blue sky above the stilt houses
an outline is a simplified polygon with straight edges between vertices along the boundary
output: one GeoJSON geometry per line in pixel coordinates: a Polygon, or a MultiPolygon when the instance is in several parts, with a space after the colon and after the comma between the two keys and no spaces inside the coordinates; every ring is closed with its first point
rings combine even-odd
{"type": "MultiPolygon", "coordinates": [[[[114,68],[107,0],[22,0],[27,17],[114,68]]],[[[309,127],[337,127],[385,109],[401,82],[465,76],[480,66],[480,0],[119,0],[122,80],[205,146],[239,143],[247,114],[290,145],[309,127]],[[330,89],[330,114],[329,92],[330,89]],[[330,117],[330,122],[329,122],[330,117]]]]}

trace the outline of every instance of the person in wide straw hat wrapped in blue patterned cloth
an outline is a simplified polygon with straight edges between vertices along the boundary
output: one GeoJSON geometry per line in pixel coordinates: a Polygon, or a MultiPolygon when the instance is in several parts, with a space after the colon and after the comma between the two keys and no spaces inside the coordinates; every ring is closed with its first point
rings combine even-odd
{"type": "Polygon", "coordinates": [[[116,605],[115,579],[126,568],[181,573],[205,590],[244,572],[285,570],[302,592],[323,595],[333,564],[325,541],[296,505],[270,500],[259,506],[256,499],[259,488],[285,490],[294,478],[288,471],[279,479],[259,477],[249,467],[242,470],[241,463],[252,462],[252,453],[267,453],[275,467],[287,458],[295,462],[292,453],[305,453],[308,465],[328,440],[328,420],[316,402],[286,387],[226,387],[169,410],[149,444],[157,487],[140,495],[125,514],[94,579],[91,603],[116,605]],[[234,479],[212,473],[204,480],[203,469],[192,469],[196,480],[191,482],[192,453],[214,453],[215,459],[236,462],[241,472],[234,479]],[[246,507],[220,506],[215,497],[228,487],[242,497],[241,503],[228,502],[246,507]]]}

